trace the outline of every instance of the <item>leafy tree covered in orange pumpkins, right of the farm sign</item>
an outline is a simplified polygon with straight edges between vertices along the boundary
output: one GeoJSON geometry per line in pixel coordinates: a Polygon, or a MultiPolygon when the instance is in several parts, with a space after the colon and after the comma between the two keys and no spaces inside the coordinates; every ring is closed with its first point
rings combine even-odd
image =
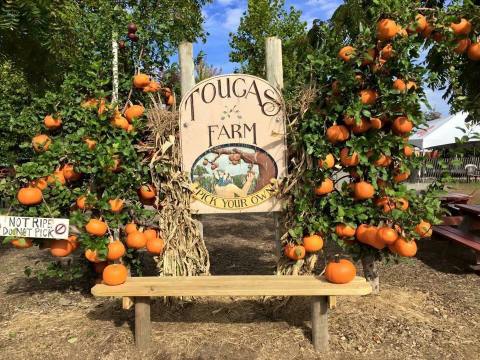
{"type": "MultiPolygon", "coordinates": [[[[453,33],[460,46],[466,35],[456,26],[467,25],[435,20],[434,27],[433,14],[451,17],[419,8],[416,2],[370,5],[354,37],[331,23],[317,25],[318,48],[309,56],[316,96],[298,125],[306,161],[299,166],[280,272],[291,273],[292,265],[294,273],[312,271],[318,248],[308,251],[308,244],[317,236],[362,259],[378,292],[375,260],[414,256],[417,240],[440,222],[441,181],[421,192],[405,185],[421,162],[408,137],[425,124],[422,83],[434,76],[418,59],[434,31],[453,33]]],[[[475,52],[466,42],[462,50],[475,52]]]]}

